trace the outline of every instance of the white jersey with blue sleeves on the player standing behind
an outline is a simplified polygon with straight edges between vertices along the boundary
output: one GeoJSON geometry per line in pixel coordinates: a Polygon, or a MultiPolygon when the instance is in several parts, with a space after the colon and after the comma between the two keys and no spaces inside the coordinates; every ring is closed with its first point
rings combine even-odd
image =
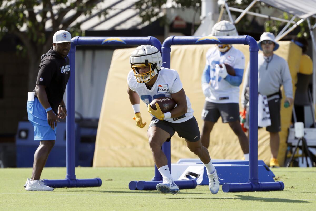
{"type": "Polygon", "coordinates": [[[202,84],[208,83],[211,86],[210,97],[205,100],[215,103],[239,103],[239,86],[245,69],[244,54],[231,47],[227,52],[221,53],[216,47],[210,48],[206,53],[206,65],[202,75],[202,84]],[[215,65],[226,63],[232,66],[236,76],[227,75],[225,79],[218,77],[215,72],[215,65]]]}

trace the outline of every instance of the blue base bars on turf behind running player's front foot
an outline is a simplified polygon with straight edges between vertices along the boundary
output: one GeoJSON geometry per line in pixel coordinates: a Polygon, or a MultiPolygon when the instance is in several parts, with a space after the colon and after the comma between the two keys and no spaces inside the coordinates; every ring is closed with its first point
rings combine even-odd
{"type": "MultiPolygon", "coordinates": [[[[178,185],[179,189],[191,189],[196,188],[197,181],[195,179],[190,180],[176,180],[174,181],[178,185]]],[[[156,190],[157,184],[162,181],[131,181],[128,184],[130,190],[156,190]]]]}

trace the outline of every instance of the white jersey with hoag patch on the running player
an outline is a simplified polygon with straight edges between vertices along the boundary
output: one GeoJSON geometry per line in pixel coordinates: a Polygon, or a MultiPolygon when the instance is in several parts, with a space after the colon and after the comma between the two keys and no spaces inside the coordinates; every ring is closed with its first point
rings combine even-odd
{"type": "MultiPolygon", "coordinates": [[[[146,105],[159,97],[172,98],[171,94],[177,93],[182,89],[182,83],[178,72],[164,67],[162,67],[158,72],[158,78],[150,90],[147,88],[145,83],[137,82],[132,70],[128,73],[127,84],[131,90],[137,92],[141,100],[146,103],[146,105]]],[[[185,117],[180,119],[169,118],[164,120],[173,123],[180,123],[191,119],[193,117],[193,109],[191,108],[191,102],[188,96],[186,96],[186,102],[188,104],[188,112],[185,114],[185,117]]]]}

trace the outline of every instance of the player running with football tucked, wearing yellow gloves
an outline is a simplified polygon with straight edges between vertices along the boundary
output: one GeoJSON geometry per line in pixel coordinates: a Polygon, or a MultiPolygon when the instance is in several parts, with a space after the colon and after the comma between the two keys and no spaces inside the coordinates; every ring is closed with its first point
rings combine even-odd
{"type": "Polygon", "coordinates": [[[159,50],[151,45],[137,47],[130,57],[132,70],[128,73],[128,95],[135,112],[136,126],[143,128],[140,114],[139,98],[148,105],[148,112],[152,120],[147,130],[148,142],[153,153],[154,162],[163,177],[163,182],[157,184],[159,192],[177,194],[179,187],[174,183],[167,165],[167,157],[161,146],[170,141],[175,132],[185,139],[188,148],[204,163],[208,177],[209,188],[212,194],[219,190],[219,181],[216,170],[211,162],[208,150],[202,146],[197,121],[189,98],[185,95],[177,71],[161,67],[162,58],[159,50]],[[163,88],[161,88],[163,87],[163,88]],[[150,102],[158,97],[170,97],[177,106],[167,113],[162,113],[158,103],[156,110],[150,107],[150,102]]]}

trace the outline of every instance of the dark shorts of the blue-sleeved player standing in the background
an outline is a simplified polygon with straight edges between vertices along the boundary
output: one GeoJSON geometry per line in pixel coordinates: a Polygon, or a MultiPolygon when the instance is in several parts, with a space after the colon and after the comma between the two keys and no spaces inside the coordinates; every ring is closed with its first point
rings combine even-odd
{"type": "Polygon", "coordinates": [[[239,105],[238,103],[214,103],[205,101],[202,110],[202,119],[204,121],[217,122],[219,117],[222,122],[239,121],[239,105]]]}

